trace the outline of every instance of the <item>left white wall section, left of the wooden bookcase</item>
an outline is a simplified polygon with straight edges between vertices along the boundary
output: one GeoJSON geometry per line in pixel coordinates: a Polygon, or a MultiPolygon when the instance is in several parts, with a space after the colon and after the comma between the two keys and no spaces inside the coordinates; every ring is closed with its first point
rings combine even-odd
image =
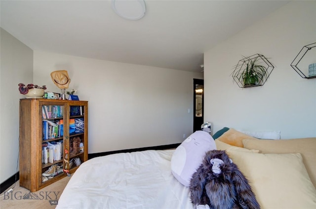
{"type": "Polygon", "coordinates": [[[0,182],[16,173],[19,154],[18,84],[33,82],[33,51],[1,28],[0,182]]]}

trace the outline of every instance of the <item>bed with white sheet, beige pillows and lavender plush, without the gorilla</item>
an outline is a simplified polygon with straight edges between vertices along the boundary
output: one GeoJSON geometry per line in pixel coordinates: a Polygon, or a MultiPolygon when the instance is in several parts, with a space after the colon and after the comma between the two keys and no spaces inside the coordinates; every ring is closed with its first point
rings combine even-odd
{"type": "MultiPolygon", "coordinates": [[[[210,147],[226,150],[248,178],[261,208],[316,208],[316,138],[256,139],[229,129],[209,141],[210,147]]],[[[200,164],[197,156],[203,156],[208,141],[195,139],[194,148],[187,142],[173,150],[118,153],[82,163],[56,209],[192,209],[184,174],[194,172],[193,161],[200,164]]]]}

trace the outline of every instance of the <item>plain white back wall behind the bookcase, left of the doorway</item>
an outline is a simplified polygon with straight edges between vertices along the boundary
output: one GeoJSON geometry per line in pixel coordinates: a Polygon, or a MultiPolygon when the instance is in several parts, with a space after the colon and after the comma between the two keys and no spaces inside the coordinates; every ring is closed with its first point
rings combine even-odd
{"type": "Polygon", "coordinates": [[[88,153],[180,143],[193,132],[193,78],[202,73],[34,51],[34,82],[59,93],[54,70],[67,70],[69,90],[89,101],[88,153]]]}

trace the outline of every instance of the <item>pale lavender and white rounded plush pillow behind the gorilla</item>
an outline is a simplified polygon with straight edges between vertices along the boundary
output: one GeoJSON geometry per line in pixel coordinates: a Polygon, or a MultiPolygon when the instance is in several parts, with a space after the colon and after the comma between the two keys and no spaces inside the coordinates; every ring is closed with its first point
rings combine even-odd
{"type": "Polygon", "coordinates": [[[216,149],[214,139],[207,132],[196,131],[185,139],[171,157],[171,172],[183,185],[189,186],[192,175],[201,165],[205,153],[216,149]]]}

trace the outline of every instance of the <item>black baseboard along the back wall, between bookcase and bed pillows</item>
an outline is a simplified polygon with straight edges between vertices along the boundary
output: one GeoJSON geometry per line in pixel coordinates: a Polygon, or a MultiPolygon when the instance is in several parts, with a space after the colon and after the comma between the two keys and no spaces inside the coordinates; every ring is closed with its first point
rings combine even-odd
{"type": "Polygon", "coordinates": [[[124,153],[124,152],[138,152],[138,151],[145,151],[145,150],[173,149],[173,148],[178,147],[180,144],[181,143],[175,143],[175,144],[160,145],[160,146],[141,147],[141,148],[135,148],[135,149],[122,149],[122,150],[109,151],[109,152],[91,153],[91,154],[88,154],[88,159],[100,157],[100,156],[105,156],[105,155],[124,153]]]}

